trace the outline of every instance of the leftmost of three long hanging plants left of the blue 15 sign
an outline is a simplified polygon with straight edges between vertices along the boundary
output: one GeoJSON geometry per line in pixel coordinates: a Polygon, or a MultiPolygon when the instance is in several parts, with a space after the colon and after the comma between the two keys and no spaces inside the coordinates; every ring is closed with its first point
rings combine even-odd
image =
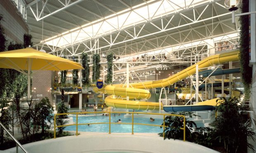
{"type": "Polygon", "coordinates": [[[90,67],[88,62],[88,54],[85,52],[82,54],[82,66],[84,68],[84,70],[82,70],[82,83],[85,86],[90,86],[90,67]]]}

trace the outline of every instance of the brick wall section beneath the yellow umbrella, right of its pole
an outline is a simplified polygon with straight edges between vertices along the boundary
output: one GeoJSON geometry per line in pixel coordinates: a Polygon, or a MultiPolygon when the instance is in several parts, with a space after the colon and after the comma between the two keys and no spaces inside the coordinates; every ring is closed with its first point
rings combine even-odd
{"type": "Polygon", "coordinates": [[[42,99],[48,97],[50,102],[55,98],[51,94],[50,88],[52,87],[52,71],[38,71],[33,74],[31,90],[33,90],[33,98],[42,99]],[[36,88],[36,90],[34,90],[36,88]]]}

